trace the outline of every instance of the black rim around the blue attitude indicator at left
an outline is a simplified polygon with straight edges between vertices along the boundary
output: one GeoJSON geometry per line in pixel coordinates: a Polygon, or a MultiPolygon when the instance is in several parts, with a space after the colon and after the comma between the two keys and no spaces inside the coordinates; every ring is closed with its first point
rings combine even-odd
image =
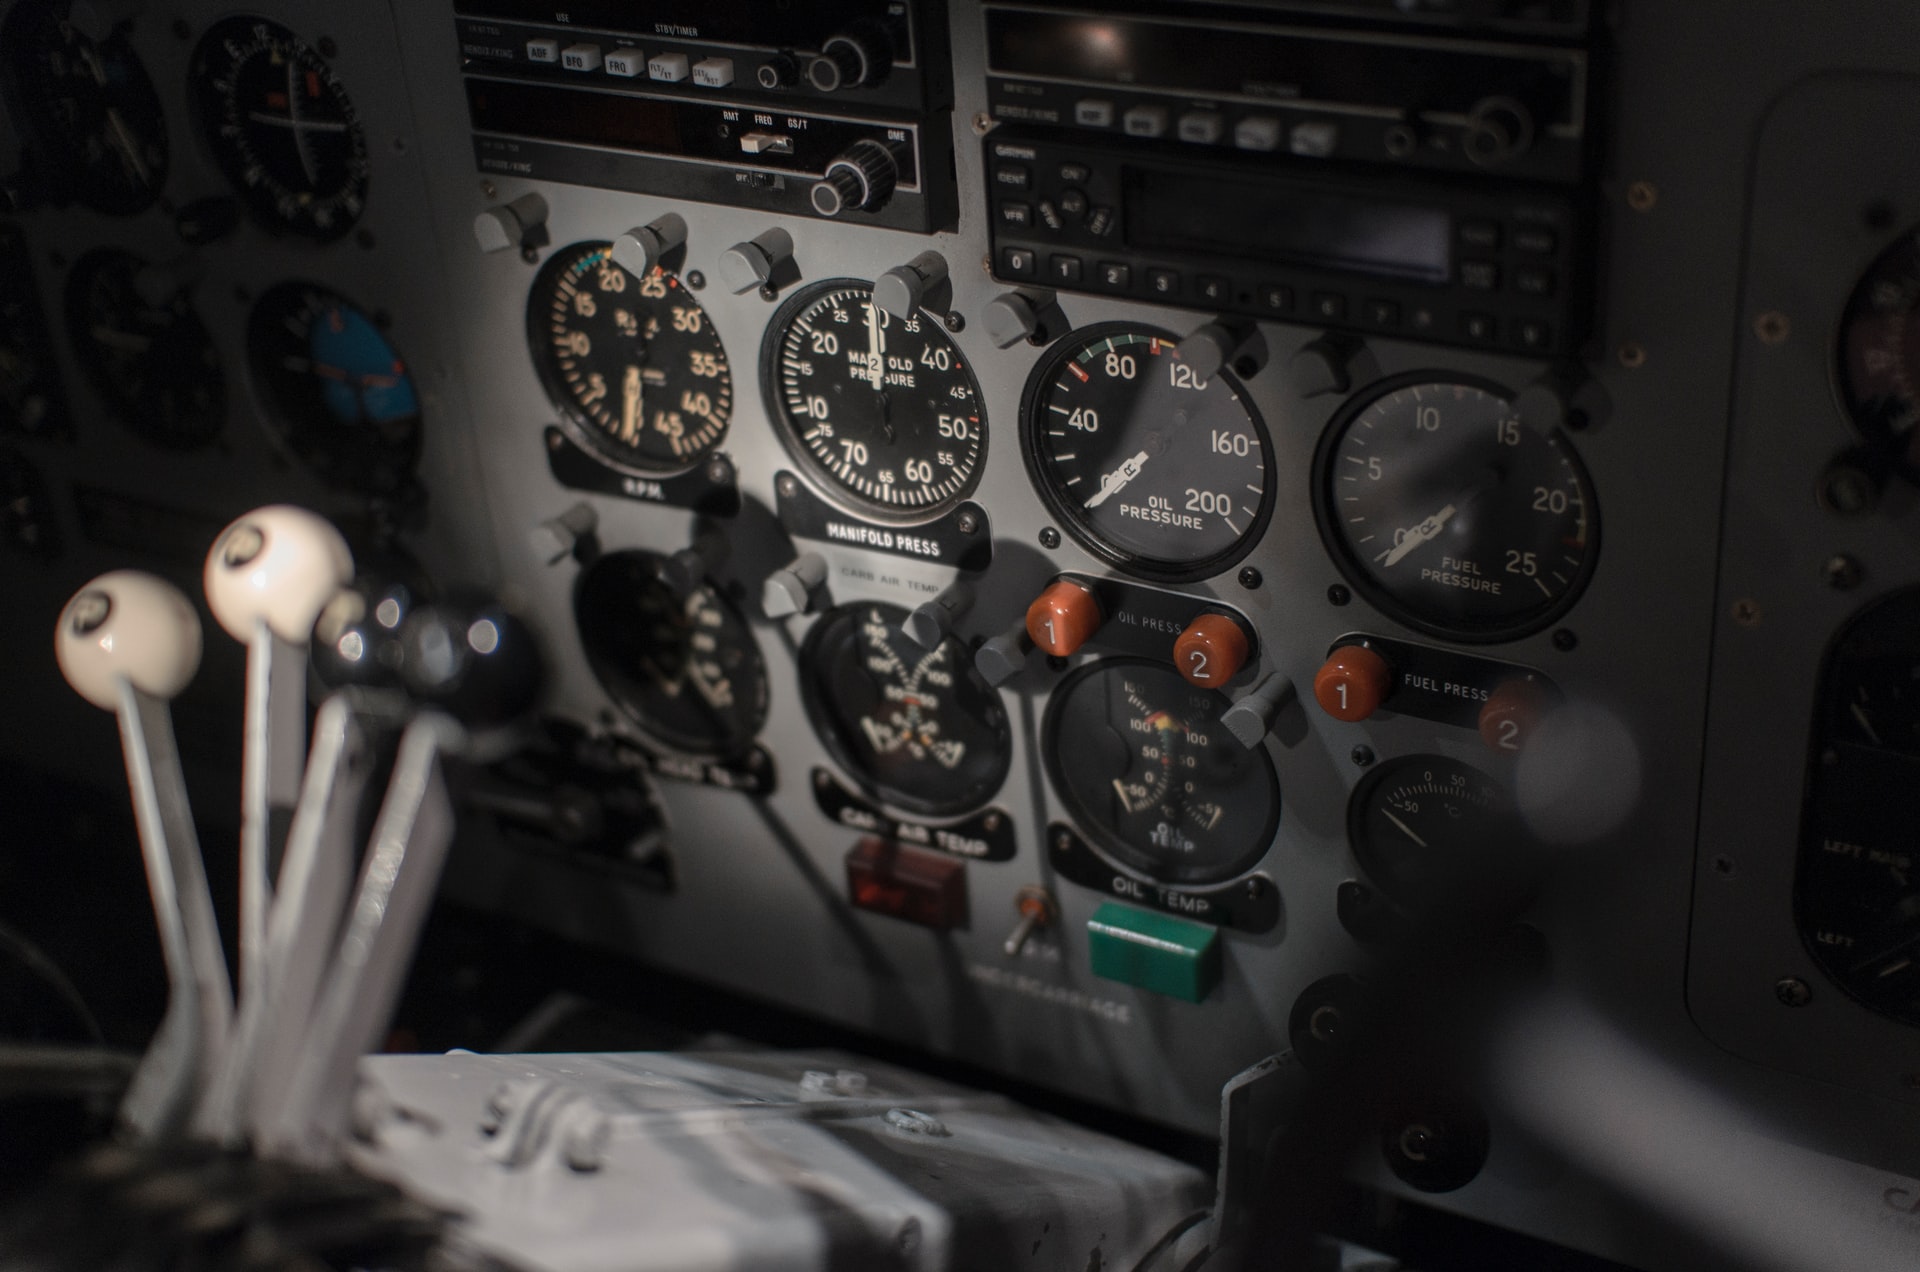
{"type": "Polygon", "coordinates": [[[420,405],[420,386],[419,380],[413,379],[411,367],[403,371],[403,375],[413,382],[415,396],[409,434],[399,446],[374,442],[365,448],[355,448],[372,455],[372,459],[340,459],[338,452],[328,446],[326,430],[340,432],[355,428],[355,425],[342,425],[336,419],[323,421],[319,417],[319,409],[323,407],[313,407],[313,404],[307,404],[309,409],[315,411],[313,417],[300,419],[296,409],[273,388],[273,375],[267,365],[269,357],[261,348],[261,332],[271,325],[284,323],[286,315],[309,296],[321,296],[332,306],[357,313],[369,327],[380,332],[380,340],[386,342],[386,348],[394,354],[394,357],[399,359],[403,367],[407,365],[405,355],[401,355],[399,348],[376,317],[365,307],[353,304],[353,300],[344,296],[340,290],[309,279],[286,279],[282,282],[275,282],[253,300],[246,317],[248,390],[259,407],[259,417],[267,427],[267,436],[271,436],[275,446],[278,446],[296,463],[336,490],[351,490],[365,496],[399,494],[407,488],[419,469],[422,434],[426,430],[424,409],[420,405]],[[311,440],[301,444],[301,436],[311,440]],[[392,486],[382,486],[380,482],[365,480],[365,471],[392,471],[396,480],[392,486]]]}

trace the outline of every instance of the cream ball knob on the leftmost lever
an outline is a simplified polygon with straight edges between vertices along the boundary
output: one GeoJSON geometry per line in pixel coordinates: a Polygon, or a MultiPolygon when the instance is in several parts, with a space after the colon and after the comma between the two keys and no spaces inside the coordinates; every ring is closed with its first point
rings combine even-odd
{"type": "Polygon", "coordinates": [[[200,671],[200,615],[186,594],[144,571],[113,571],[73,594],[54,628],[60,674],[113,711],[119,682],[169,699],[200,671]]]}

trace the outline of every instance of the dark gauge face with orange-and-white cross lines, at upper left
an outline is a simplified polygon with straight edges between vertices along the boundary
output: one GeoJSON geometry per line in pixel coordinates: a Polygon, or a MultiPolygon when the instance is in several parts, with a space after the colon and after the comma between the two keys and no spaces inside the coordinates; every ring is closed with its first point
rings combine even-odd
{"type": "Polygon", "coordinates": [[[326,242],[367,206],[367,131],[326,60],[265,17],[228,17],[194,48],[200,125],[227,181],[271,229],[326,242]]]}

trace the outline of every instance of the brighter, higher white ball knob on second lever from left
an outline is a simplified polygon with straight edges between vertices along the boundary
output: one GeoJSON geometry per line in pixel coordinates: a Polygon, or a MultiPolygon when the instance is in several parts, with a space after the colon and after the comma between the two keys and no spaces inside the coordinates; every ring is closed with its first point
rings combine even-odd
{"type": "Polygon", "coordinates": [[[242,644],[255,623],[290,646],[307,644],[321,609],[351,580],[340,530],[290,503],[257,507],[221,530],[204,573],[213,621],[242,644]]]}

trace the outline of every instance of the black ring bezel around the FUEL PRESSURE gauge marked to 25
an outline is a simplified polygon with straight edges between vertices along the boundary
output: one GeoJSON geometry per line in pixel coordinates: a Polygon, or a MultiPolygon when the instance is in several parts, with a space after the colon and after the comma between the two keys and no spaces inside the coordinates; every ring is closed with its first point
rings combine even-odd
{"type": "Polygon", "coordinates": [[[1548,444],[1559,448],[1571,461],[1572,471],[1580,478],[1582,496],[1588,501],[1588,544],[1586,555],[1580,559],[1580,569],[1567,582],[1567,590],[1553,599],[1553,603],[1536,615],[1521,623],[1500,623],[1486,626],[1463,626],[1452,623],[1436,623],[1427,619],[1411,605],[1402,603],[1388,592],[1367,565],[1354,553],[1346,544],[1346,536],[1340,534],[1340,526],[1332,511],[1332,465],[1340,442],[1346,438],[1348,427],[1361,413],[1373,407],[1377,402],[1402,388],[1411,388],[1415,384],[1463,384],[1467,388],[1478,388],[1482,392],[1501,398],[1509,405],[1513,404],[1515,392],[1505,384],[1492,380],[1482,375],[1455,373],[1455,371],[1407,371],[1402,375],[1388,377],[1384,380],[1375,380],[1367,384],[1361,392],[1340,404],[1332,419],[1327,421],[1327,428],[1321,432],[1319,444],[1313,448],[1313,525],[1319,528],[1321,546],[1327,555],[1332,557],[1334,567],[1340,575],[1354,586],[1354,590],[1367,599],[1382,615],[1400,623],[1407,630],[1419,632],[1423,636],[1434,636],[1438,640],[1448,640],[1461,646],[1492,646],[1511,640],[1521,640],[1542,632],[1561,619],[1580,603],[1586,596],[1586,588],[1594,578],[1594,567],[1599,563],[1601,546],[1601,515],[1599,515],[1599,494],[1594,488],[1594,475],[1588,473],[1586,461],[1580,452],[1574,450],[1572,438],[1567,436],[1565,428],[1553,428],[1548,434],[1548,444]]]}

